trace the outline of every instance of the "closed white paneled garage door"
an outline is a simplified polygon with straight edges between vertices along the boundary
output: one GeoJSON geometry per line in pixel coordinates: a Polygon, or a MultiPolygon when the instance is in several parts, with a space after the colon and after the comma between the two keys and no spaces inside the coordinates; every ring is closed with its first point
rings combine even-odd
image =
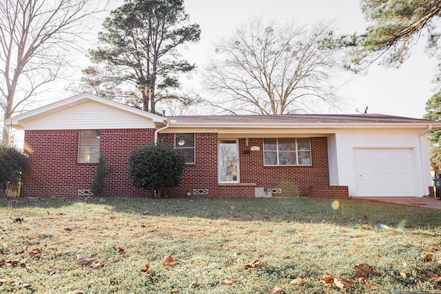
{"type": "Polygon", "coordinates": [[[412,149],[353,149],[356,196],[415,196],[412,149]]]}

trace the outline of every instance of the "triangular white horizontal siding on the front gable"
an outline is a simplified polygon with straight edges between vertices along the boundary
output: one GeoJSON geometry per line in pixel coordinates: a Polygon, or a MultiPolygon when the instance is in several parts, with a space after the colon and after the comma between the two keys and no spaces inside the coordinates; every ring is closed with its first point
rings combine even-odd
{"type": "Polygon", "coordinates": [[[149,118],[88,101],[43,118],[23,121],[24,129],[138,129],[154,128],[149,118]]]}

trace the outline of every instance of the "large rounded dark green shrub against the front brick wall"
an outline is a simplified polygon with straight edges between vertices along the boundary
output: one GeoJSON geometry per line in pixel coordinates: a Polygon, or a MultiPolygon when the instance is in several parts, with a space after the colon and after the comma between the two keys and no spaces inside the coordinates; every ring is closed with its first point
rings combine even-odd
{"type": "Polygon", "coordinates": [[[128,159],[129,177],[137,188],[156,191],[177,187],[181,182],[185,158],[181,151],[168,145],[152,144],[132,151],[128,159]]]}

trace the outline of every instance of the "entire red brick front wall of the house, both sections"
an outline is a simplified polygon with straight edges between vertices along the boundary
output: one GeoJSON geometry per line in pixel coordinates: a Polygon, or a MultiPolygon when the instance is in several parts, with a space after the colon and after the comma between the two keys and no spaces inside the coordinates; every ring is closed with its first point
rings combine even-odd
{"type": "MultiPolygon", "coordinates": [[[[174,146],[174,134],[159,134],[174,146]]],[[[30,167],[23,175],[22,196],[76,196],[90,189],[96,163],[79,163],[78,130],[26,131],[30,167]]],[[[112,167],[105,196],[152,196],[151,191],[135,189],[127,174],[127,158],[137,146],[154,140],[154,129],[103,129],[101,152],[112,167]]],[[[308,196],[309,186],[329,185],[327,138],[311,138],[311,166],[263,166],[263,139],[239,140],[239,185],[218,185],[218,136],[196,134],[196,163],[186,165],[181,185],[170,189],[170,197],[183,197],[187,191],[208,189],[209,197],[254,197],[254,188],[282,189],[274,196],[308,196]],[[249,151],[250,147],[258,151],[249,151]]]]}

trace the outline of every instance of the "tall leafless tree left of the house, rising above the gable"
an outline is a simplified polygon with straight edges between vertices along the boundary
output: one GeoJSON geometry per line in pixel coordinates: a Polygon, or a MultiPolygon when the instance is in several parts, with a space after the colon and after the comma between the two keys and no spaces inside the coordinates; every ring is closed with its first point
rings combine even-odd
{"type": "MultiPolygon", "coordinates": [[[[95,0],[0,1],[0,106],[10,118],[54,81],[69,63],[69,50],[99,12],[95,0]]],[[[3,144],[8,145],[8,126],[3,144]]]]}

